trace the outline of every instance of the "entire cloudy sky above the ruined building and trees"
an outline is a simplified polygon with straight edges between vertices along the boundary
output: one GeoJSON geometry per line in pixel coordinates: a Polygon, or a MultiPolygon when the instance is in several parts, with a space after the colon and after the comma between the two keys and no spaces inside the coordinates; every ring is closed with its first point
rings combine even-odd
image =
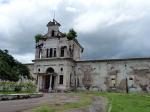
{"type": "Polygon", "coordinates": [[[150,57],[149,0],[0,0],[0,49],[31,62],[54,11],[62,32],[78,32],[83,59],[150,57]]]}

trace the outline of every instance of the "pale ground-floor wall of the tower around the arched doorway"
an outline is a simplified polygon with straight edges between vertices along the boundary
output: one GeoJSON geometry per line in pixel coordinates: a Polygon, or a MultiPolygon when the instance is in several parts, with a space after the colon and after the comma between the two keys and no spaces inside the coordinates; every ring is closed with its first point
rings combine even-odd
{"type": "MultiPolygon", "coordinates": [[[[56,77],[56,89],[70,89],[70,74],[74,75],[74,62],[71,59],[50,59],[37,61],[34,65],[34,73],[38,74],[39,77],[46,75],[48,68],[53,68],[57,74],[56,77]],[[63,69],[61,71],[61,69],[63,69]],[[63,84],[59,84],[59,76],[63,75],[63,84]]],[[[42,79],[39,78],[39,84],[42,79]]],[[[40,88],[42,86],[40,85],[40,88]]]]}

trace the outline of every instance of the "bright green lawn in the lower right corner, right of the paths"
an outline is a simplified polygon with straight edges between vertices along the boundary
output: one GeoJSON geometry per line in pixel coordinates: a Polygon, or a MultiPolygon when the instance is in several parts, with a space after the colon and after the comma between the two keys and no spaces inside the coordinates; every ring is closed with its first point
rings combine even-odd
{"type": "Polygon", "coordinates": [[[150,112],[150,97],[139,94],[102,94],[109,99],[111,112],[150,112]]]}

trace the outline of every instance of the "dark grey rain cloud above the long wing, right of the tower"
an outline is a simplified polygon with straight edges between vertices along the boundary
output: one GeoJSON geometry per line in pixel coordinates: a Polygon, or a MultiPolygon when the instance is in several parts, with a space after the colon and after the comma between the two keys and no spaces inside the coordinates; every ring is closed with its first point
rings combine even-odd
{"type": "Polygon", "coordinates": [[[115,24],[80,37],[84,42],[84,58],[149,57],[149,17],[137,21],[115,24]],[[86,38],[88,36],[88,38],[86,38]]]}

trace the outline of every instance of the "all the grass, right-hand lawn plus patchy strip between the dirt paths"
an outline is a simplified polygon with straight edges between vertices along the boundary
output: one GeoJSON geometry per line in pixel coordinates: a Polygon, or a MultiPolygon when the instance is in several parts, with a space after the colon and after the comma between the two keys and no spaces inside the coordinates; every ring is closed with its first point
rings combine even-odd
{"type": "Polygon", "coordinates": [[[68,95],[80,96],[78,103],[64,105],[47,105],[34,109],[33,112],[63,112],[64,110],[89,106],[92,96],[104,96],[108,98],[110,112],[150,112],[150,96],[140,94],[123,93],[98,93],[98,92],[77,92],[68,95]]]}

